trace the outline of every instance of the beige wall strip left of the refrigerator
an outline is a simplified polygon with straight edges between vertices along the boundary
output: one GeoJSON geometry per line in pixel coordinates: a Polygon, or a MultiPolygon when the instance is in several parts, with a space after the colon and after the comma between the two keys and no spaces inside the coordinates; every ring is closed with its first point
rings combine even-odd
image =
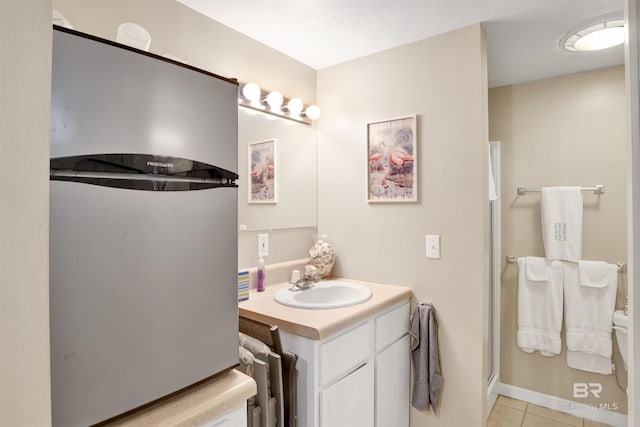
{"type": "Polygon", "coordinates": [[[51,1],[0,2],[0,425],[51,424],[51,1]]]}

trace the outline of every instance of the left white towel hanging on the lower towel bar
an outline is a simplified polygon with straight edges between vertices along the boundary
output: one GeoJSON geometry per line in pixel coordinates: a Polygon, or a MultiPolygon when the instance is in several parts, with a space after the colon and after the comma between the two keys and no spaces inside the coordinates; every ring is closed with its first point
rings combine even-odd
{"type": "MultiPolygon", "coordinates": [[[[531,276],[530,276],[531,277],[531,276]]],[[[543,356],[560,354],[562,339],[562,263],[537,257],[518,258],[518,347],[543,356]],[[536,277],[527,279],[527,264],[536,277]],[[546,270],[546,274],[543,271],[546,270]]]]}

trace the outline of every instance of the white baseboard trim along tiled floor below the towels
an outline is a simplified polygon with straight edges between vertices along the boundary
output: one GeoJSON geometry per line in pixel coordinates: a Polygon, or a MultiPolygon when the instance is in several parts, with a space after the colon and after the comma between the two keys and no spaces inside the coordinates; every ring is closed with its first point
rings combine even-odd
{"type": "Polygon", "coordinates": [[[609,411],[607,409],[595,408],[585,405],[584,403],[562,399],[549,394],[516,387],[511,384],[500,383],[500,394],[514,399],[524,400],[525,402],[533,403],[535,405],[544,406],[545,408],[553,409],[555,411],[609,424],[614,427],[627,427],[627,416],[624,414],[609,411]]]}

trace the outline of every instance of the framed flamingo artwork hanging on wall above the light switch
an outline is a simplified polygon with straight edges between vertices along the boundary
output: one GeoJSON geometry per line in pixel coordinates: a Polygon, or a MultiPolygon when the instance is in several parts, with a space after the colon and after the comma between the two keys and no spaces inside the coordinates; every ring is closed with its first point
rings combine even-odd
{"type": "Polygon", "coordinates": [[[367,124],[369,202],[417,202],[416,116],[367,124]]]}

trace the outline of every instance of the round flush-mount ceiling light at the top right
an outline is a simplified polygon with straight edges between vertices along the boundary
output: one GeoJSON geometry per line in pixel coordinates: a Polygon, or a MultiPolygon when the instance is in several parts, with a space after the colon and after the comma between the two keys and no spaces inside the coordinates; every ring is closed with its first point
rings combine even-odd
{"type": "Polygon", "coordinates": [[[607,49],[624,43],[623,19],[600,20],[596,24],[583,26],[565,35],[560,47],[570,52],[591,52],[607,49]]]}

